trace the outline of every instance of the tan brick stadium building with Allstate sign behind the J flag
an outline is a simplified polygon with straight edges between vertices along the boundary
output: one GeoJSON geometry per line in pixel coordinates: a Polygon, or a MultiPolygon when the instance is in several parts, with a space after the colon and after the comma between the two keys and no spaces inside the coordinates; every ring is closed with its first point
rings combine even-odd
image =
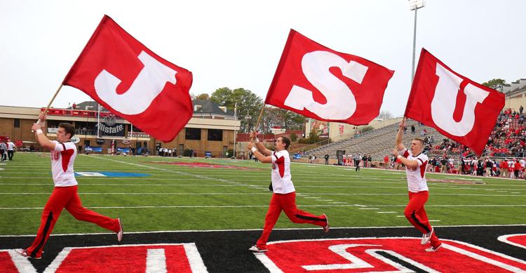
{"type": "MultiPolygon", "coordinates": [[[[58,124],[69,122],[76,128],[79,152],[109,154],[130,152],[135,154],[158,154],[159,148],[171,149],[172,155],[196,155],[204,157],[225,157],[234,148],[234,133],[241,121],[234,112],[210,100],[194,100],[194,115],[170,142],[156,140],[128,121],[109,113],[97,102],[82,102],[66,109],[48,110],[45,133],[50,140],[56,138],[58,124]],[[113,144],[112,144],[113,143],[113,144]]],[[[39,143],[31,132],[31,126],[38,119],[43,108],[0,106],[0,135],[9,137],[19,150],[41,151],[39,143]]],[[[231,154],[231,153],[230,153],[231,154]]]]}

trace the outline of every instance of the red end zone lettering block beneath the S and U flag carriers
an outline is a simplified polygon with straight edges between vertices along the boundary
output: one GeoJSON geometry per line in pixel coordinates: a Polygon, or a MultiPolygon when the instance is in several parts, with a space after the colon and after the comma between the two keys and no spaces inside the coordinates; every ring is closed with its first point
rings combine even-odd
{"type": "Polygon", "coordinates": [[[420,238],[276,241],[269,243],[267,253],[255,255],[271,271],[283,272],[412,272],[403,263],[426,272],[526,270],[523,260],[460,241],[442,241],[435,253],[425,252],[429,244],[422,246],[420,238]]]}

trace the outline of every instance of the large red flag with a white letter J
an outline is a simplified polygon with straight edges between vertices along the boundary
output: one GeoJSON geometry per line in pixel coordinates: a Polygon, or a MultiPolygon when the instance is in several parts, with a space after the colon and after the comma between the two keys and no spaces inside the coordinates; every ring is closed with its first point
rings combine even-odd
{"type": "Polygon", "coordinates": [[[191,72],[159,57],[104,15],[62,84],[169,142],[192,116],[191,82],[191,72]]]}

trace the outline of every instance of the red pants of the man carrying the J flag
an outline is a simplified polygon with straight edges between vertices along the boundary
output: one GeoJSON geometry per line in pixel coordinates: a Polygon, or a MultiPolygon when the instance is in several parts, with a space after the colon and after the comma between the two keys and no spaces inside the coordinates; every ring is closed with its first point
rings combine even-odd
{"type": "Polygon", "coordinates": [[[119,220],[100,215],[84,208],[81,204],[81,199],[79,199],[79,194],[76,193],[76,189],[77,186],[55,187],[55,189],[53,189],[53,193],[51,193],[48,203],[46,203],[42,211],[39,232],[36,234],[33,244],[27,248],[29,255],[32,257],[40,257],[42,255],[43,246],[46,244],[46,241],[48,241],[49,235],[53,231],[55,222],[57,222],[58,216],[60,216],[63,208],[77,220],[93,222],[105,229],[119,232],[119,220]]]}

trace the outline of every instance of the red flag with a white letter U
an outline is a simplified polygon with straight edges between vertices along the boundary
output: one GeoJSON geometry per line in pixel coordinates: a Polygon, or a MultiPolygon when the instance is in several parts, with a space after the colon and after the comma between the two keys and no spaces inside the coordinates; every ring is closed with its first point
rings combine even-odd
{"type": "Polygon", "coordinates": [[[405,116],[481,154],[504,94],[454,72],[422,48],[405,116]]]}

